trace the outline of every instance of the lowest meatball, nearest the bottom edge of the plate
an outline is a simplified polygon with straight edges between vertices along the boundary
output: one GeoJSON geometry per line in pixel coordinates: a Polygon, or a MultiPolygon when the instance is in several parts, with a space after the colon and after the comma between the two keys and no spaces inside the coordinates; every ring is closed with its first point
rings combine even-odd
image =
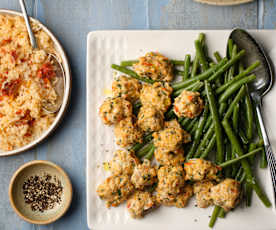
{"type": "Polygon", "coordinates": [[[155,198],[149,192],[136,191],[127,200],[127,209],[133,218],[142,218],[155,207],[155,198]]]}

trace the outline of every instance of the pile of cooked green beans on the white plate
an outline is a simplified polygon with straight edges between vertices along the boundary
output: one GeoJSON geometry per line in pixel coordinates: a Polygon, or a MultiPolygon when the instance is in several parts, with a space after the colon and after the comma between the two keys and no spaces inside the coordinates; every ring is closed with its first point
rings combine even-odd
{"type": "MultiPolygon", "coordinates": [[[[222,58],[219,52],[215,52],[214,61],[208,55],[202,33],[195,41],[195,50],[193,61],[189,54],[184,60],[171,60],[175,74],[181,76],[180,81],[171,83],[172,100],[183,90],[198,91],[205,100],[200,117],[178,118],[182,128],[192,135],[192,142],[185,146],[186,160],[212,159],[222,167],[223,177],[236,179],[242,184],[242,196],[247,206],[251,205],[252,192],[255,191],[262,203],[270,207],[268,197],[253,174],[257,152],[261,155],[260,168],[267,167],[262,135],[247,86],[256,78],[251,72],[260,62],[256,61],[244,69],[242,58],[245,51],[239,50],[232,40],[227,44],[226,57],[222,58]]],[[[113,64],[111,67],[139,81],[156,82],[128,68],[134,63],[137,61],[123,61],[121,65],[113,64]]],[[[134,105],[135,113],[138,113],[140,106],[140,103],[134,105]]],[[[173,108],[166,112],[165,118],[176,118],[173,108]]],[[[143,143],[131,149],[139,158],[151,159],[154,153],[151,133],[144,136],[143,143]]],[[[209,226],[213,227],[217,217],[224,216],[224,210],[215,206],[209,226]]]]}

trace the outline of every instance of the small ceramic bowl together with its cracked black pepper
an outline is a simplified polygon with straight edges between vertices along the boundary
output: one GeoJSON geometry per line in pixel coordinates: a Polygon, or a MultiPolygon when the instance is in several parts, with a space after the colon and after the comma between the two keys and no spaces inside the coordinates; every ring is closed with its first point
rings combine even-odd
{"type": "Polygon", "coordinates": [[[62,217],[72,201],[72,185],[58,165],[35,160],[13,175],[10,203],[22,219],[33,224],[50,224],[62,217]]]}

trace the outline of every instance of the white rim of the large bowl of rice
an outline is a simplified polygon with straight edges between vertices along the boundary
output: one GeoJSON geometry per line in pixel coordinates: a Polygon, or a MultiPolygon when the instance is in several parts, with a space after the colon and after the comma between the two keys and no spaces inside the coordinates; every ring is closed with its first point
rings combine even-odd
{"type": "MultiPolygon", "coordinates": [[[[22,16],[22,13],[19,12],[19,11],[8,10],[8,9],[3,9],[3,8],[0,8],[0,14],[1,15],[11,15],[11,16],[22,16]]],[[[59,53],[59,55],[61,57],[62,65],[63,65],[64,71],[65,71],[65,88],[64,88],[63,102],[62,102],[60,110],[58,111],[53,123],[49,126],[48,129],[46,129],[42,133],[42,135],[40,135],[38,138],[31,141],[29,144],[24,145],[20,148],[10,150],[10,151],[0,150],[0,157],[2,157],[2,156],[11,156],[11,155],[16,155],[16,154],[19,154],[19,153],[23,153],[23,152],[37,146],[42,141],[44,141],[49,135],[51,135],[55,131],[55,129],[61,123],[61,121],[63,120],[64,115],[65,115],[65,113],[68,109],[69,102],[70,102],[71,91],[72,91],[72,73],[71,73],[69,60],[68,60],[68,57],[65,53],[65,50],[62,47],[59,40],[55,37],[55,35],[45,25],[43,25],[37,19],[34,19],[32,17],[30,17],[30,19],[31,19],[31,21],[37,23],[41,27],[41,29],[43,31],[45,31],[50,36],[50,38],[52,39],[52,41],[54,43],[54,46],[55,46],[57,52],[59,53]],[[1,151],[3,151],[3,152],[1,152],[1,151]]]]}

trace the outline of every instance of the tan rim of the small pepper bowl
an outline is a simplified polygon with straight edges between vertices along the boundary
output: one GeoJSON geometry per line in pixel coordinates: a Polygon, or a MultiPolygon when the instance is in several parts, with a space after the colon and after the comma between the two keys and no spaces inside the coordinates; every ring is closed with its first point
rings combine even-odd
{"type": "Polygon", "coordinates": [[[69,209],[71,203],[72,203],[72,198],[73,198],[73,187],[72,187],[72,183],[71,180],[69,178],[69,176],[67,175],[67,173],[64,171],[64,169],[62,169],[60,166],[58,166],[57,164],[51,162],[51,161],[46,161],[46,160],[33,160],[33,161],[29,161],[23,165],[21,165],[13,174],[11,180],[10,180],[10,185],[9,185],[9,200],[10,200],[10,204],[13,208],[13,210],[15,211],[15,213],[23,220],[32,223],[32,224],[40,224],[40,225],[45,225],[45,224],[50,224],[55,222],[56,220],[58,220],[59,218],[61,218],[69,209]],[[14,197],[13,197],[13,187],[14,187],[14,183],[15,180],[17,178],[17,176],[24,171],[26,168],[33,166],[33,165],[37,165],[37,164],[45,164],[47,166],[51,166],[53,168],[55,168],[64,178],[66,183],[68,184],[68,188],[66,187],[66,189],[68,189],[69,192],[69,200],[64,204],[65,208],[63,212],[60,212],[58,215],[56,215],[55,217],[48,219],[48,220],[32,220],[26,216],[24,216],[17,208],[15,202],[14,202],[14,197]]]}

